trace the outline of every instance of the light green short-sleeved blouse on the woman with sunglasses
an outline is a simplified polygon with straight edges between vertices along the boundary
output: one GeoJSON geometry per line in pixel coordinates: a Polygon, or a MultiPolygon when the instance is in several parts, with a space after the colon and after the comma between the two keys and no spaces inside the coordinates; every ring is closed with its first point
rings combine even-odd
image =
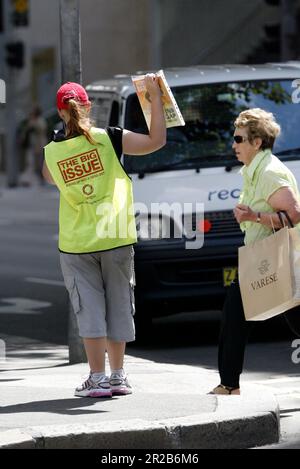
{"type": "MultiPolygon", "coordinates": [[[[241,174],[244,183],[239,202],[248,205],[255,212],[274,212],[267,201],[282,187],[291,187],[296,197],[299,197],[294,175],[272,155],[271,150],[259,152],[249,166],[243,166],[241,174]]],[[[272,233],[272,229],[267,226],[250,221],[242,222],[240,228],[245,232],[245,244],[253,243],[272,233]]]]}

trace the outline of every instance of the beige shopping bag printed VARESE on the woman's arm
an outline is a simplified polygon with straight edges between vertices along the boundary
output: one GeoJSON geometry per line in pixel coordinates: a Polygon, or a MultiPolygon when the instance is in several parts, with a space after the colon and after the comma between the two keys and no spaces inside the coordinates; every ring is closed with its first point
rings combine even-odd
{"type": "MultiPolygon", "coordinates": [[[[299,238],[294,230],[285,227],[239,248],[239,282],[247,321],[262,321],[300,304],[300,285],[299,296],[295,295],[292,245],[298,245],[299,238]]],[[[297,263],[300,270],[300,246],[297,263]]]]}

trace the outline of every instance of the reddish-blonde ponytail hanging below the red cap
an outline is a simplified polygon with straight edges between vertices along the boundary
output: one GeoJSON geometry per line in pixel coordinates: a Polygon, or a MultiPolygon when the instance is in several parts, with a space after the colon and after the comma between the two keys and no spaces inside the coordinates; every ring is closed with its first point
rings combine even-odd
{"type": "Polygon", "coordinates": [[[89,117],[89,109],[86,106],[78,104],[74,99],[70,99],[68,104],[70,119],[66,124],[66,137],[84,135],[89,143],[96,145],[97,142],[90,133],[92,122],[89,117]]]}

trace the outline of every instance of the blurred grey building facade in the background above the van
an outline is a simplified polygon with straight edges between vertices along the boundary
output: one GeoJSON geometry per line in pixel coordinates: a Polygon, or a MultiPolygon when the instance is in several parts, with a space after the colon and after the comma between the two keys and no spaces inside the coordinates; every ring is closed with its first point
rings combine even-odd
{"type": "MultiPolygon", "coordinates": [[[[280,32],[276,28],[282,21],[283,6],[288,4],[289,24],[298,20],[300,10],[300,0],[79,0],[78,3],[84,85],[137,70],[280,60],[280,32]]],[[[61,82],[60,0],[20,3],[0,0],[0,11],[0,48],[4,52],[0,57],[0,79],[13,86],[18,125],[33,103],[38,103],[45,115],[54,112],[55,91],[61,82]],[[11,24],[11,17],[3,13],[11,4],[28,5],[28,25],[11,24]],[[24,44],[22,68],[11,68],[6,63],[6,45],[15,41],[24,44]]],[[[293,42],[292,35],[290,40],[293,50],[290,47],[290,56],[286,58],[296,59],[298,44],[293,42]]],[[[3,136],[7,132],[4,124],[5,106],[0,104],[0,167],[3,167],[3,136]]]]}

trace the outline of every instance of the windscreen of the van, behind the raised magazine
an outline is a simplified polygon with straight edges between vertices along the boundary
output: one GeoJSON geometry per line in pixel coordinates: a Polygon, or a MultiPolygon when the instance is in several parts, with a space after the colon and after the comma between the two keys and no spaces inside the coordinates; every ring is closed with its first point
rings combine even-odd
{"type": "MultiPolygon", "coordinates": [[[[167,145],[143,158],[126,158],[129,173],[236,164],[232,150],[234,121],[248,108],[274,113],[281,125],[274,153],[282,159],[300,158],[300,106],[292,103],[292,80],[245,81],[182,86],[172,89],[186,125],[167,131],[167,145]],[[292,151],[291,151],[292,150],[292,151]],[[155,156],[157,155],[157,157],[155,156]]],[[[147,132],[134,95],[128,99],[125,127],[147,132]]]]}

